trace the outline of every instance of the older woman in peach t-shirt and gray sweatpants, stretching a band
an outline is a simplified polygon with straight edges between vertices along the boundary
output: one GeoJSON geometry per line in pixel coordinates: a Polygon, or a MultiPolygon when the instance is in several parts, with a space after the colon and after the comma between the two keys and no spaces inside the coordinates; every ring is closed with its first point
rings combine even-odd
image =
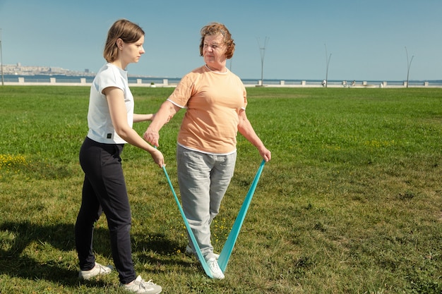
{"type": "MultiPolygon", "coordinates": [[[[218,214],[222,197],[234,173],[237,132],[258,148],[269,161],[265,148],[246,116],[246,88],[237,75],[226,68],[234,54],[234,40],[221,23],[201,29],[200,54],[205,64],[181,79],[163,102],[144,134],[158,146],[159,130],[169,118],[186,109],[177,144],[179,190],[184,214],[213,278],[222,279],[217,256],[210,242],[210,223],[218,214]]],[[[195,252],[189,240],[188,248],[195,252]]]]}

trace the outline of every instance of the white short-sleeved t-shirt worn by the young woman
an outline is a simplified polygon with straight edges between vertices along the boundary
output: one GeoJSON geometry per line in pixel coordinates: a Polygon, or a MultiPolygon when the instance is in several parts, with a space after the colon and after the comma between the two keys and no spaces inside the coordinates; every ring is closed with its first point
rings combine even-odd
{"type": "Polygon", "coordinates": [[[127,123],[133,125],[133,96],[127,82],[127,71],[106,63],[95,76],[90,87],[88,111],[88,137],[96,142],[105,144],[125,144],[126,141],[115,132],[109,114],[109,105],[102,91],[107,87],[118,87],[124,92],[127,123]]]}

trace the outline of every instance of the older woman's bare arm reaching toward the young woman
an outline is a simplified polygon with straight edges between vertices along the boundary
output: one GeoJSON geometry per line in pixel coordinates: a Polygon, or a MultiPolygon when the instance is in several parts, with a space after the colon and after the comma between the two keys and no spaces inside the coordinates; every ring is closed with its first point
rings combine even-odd
{"type": "Polygon", "coordinates": [[[165,123],[167,123],[170,118],[172,118],[179,111],[179,106],[173,104],[172,102],[165,101],[161,104],[160,109],[158,109],[152,123],[150,123],[148,129],[144,133],[144,139],[153,146],[158,147],[158,141],[160,140],[160,130],[165,123]]]}

